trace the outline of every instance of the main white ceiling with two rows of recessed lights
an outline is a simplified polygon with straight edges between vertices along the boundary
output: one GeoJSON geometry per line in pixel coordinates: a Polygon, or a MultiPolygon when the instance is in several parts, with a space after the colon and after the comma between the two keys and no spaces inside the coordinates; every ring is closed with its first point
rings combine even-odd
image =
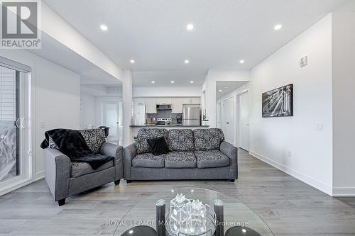
{"type": "Polygon", "coordinates": [[[346,0],[44,1],[132,69],[135,86],[151,86],[153,78],[155,86],[175,86],[171,79],[190,86],[192,79],[202,83],[207,69],[251,69],[346,0]],[[109,30],[100,30],[102,23],[109,30]],[[283,28],[273,30],[278,23],[283,28]]]}

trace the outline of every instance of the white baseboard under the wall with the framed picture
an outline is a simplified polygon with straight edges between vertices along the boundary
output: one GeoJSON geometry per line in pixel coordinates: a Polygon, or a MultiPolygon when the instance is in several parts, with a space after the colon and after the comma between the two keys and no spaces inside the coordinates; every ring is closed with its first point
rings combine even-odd
{"type": "Polygon", "coordinates": [[[327,184],[324,184],[320,181],[317,181],[316,179],[311,178],[310,176],[306,176],[305,174],[297,172],[294,169],[285,167],[285,165],[275,162],[272,159],[269,159],[268,157],[264,157],[261,154],[257,154],[252,151],[249,151],[249,154],[251,154],[253,157],[261,159],[261,161],[266,162],[277,169],[280,169],[280,171],[283,171],[286,174],[290,174],[290,176],[295,177],[296,179],[304,182],[305,184],[308,184],[314,187],[315,189],[322,191],[323,193],[327,193],[329,196],[333,196],[332,186],[328,186],[327,184]]]}

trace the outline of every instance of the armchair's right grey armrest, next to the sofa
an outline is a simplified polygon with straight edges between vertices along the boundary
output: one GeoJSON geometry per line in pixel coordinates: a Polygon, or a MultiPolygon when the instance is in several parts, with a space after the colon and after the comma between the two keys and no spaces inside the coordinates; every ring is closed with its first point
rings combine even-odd
{"type": "Polygon", "coordinates": [[[114,157],[114,167],[116,168],[116,180],[122,179],[124,176],[124,147],[115,145],[114,143],[104,142],[101,146],[101,154],[114,157]]]}

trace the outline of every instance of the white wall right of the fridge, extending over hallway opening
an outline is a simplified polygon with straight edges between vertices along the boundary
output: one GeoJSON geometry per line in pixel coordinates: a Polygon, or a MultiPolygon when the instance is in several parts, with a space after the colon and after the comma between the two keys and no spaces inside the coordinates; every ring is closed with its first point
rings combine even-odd
{"type": "MultiPolygon", "coordinates": [[[[216,113],[216,82],[217,81],[249,81],[249,70],[235,70],[235,69],[210,69],[207,73],[202,91],[206,93],[206,116],[209,118],[209,126],[211,128],[217,127],[217,113],[216,113]]],[[[201,94],[201,91],[200,91],[201,94]]],[[[203,106],[203,105],[202,105],[203,106]]]]}

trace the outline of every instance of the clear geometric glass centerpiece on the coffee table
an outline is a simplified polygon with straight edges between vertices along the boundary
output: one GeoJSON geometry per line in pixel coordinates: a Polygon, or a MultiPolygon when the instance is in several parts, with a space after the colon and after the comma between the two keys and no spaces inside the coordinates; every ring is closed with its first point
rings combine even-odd
{"type": "Polygon", "coordinates": [[[170,201],[170,212],[166,219],[168,235],[212,236],[216,230],[214,210],[198,199],[187,199],[182,193],[170,201]]]}

